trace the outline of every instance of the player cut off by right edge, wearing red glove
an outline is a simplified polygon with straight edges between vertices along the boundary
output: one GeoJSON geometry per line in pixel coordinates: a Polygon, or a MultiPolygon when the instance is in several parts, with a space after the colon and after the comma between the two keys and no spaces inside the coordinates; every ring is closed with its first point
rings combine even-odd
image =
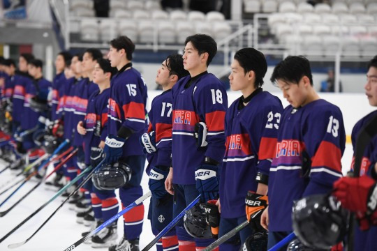
{"type": "MultiPolygon", "coordinates": [[[[377,107],[377,56],[368,64],[367,84],[364,86],[369,105],[377,107]]],[[[352,130],[352,144],[355,151],[357,135],[377,110],[360,119],[352,130]]],[[[375,128],[375,130],[377,130],[375,128]]],[[[351,169],[355,156],[353,157],[351,169]]],[[[355,213],[360,226],[355,226],[354,250],[376,250],[377,236],[377,136],[371,139],[360,165],[360,178],[340,178],[334,183],[334,195],[344,208],[355,213]],[[367,230],[367,231],[366,231],[367,230]]]]}

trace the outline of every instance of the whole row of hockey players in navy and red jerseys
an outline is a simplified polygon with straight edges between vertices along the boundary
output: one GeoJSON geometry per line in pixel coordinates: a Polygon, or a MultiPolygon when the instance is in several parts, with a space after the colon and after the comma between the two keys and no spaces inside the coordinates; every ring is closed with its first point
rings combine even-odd
{"type": "MultiPolygon", "coordinates": [[[[165,234],[158,250],[203,250],[214,238],[224,236],[245,220],[249,220],[249,227],[219,249],[239,250],[242,244],[244,250],[272,248],[293,231],[293,201],[328,195],[333,185],[334,195],[342,205],[357,212],[362,230],[355,228],[355,249],[373,250],[376,227],[369,225],[376,224],[376,137],[364,154],[362,177],[341,178],[346,142],[342,114],[313,89],[307,59],[289,56],[274,68],[271,81],[290,103],[283,109],[279,98],[262,89],[267,71],[265,56],[252,48],[239,50],[229,79],[232,91],[241,91],[242,96],[228,107],[223,84],[207,72],[216,54],[215,41],[206,35],[190,36],[186,38],[184,55],[170,55],[163,61],[156,77],[163,93],[154,98],[147,113],[147,88],[131,63],[134,49],[131,40],[119,37],[110,42],[109,61],[94,49],[87,50],[82,59],[71,59],[65,52],[57,56],[50,115],[54,123],[48,133],[69,139],[72,146],[80,149],[77,157],[67,163],[63,175],[70,180],[83,166],[96,166],[103,156],[105,162],[93,181],[86,184],[84,199],[71,201],[78,201],[79,221],[84,218],[98,226],[115,215],[119,208],[116,188],[123,206],[142,195],[144,151],[152,192],[149,219],[154,234],[201,195],[201,204],[191,208],[185,220],[165,234]],[[70,59],[74,75],[71,78],[69,70],[64,75],[70,59]],[[78,165],[80,162],[85,165],[78,165]]],[[[31,62],[30,59],[29,68],[31,62]]],[[[9,60],[3,63],[10,75],[8,64],[9,60]]],[[[31,70],[29,73],[32,75],[31,70]]],[[[20,124],[23,132],[34,128],[44,111],[39,109],[36,119],[28,119],[35,122],[33,125],[22,127],[25,111],[31,113],[27,110],[28,99],[38,97],[34,98],[35,107],[47,98],[42,95],[45,91],[40,91],[44,88],[38,82],[40,75],[36,75],[31,81],[38,83],[31,85],[34,93],[23,92],[27,94],[21,112],[15,100],[22,93],[19,86],[23,82],[14,81],[15,77],[10,77],[14,83],[13,116],[6,117],[13,119],[13,134],[22,135],[18,132],[20,124]],[[22,119],[17,120],[20,114],[22,119]]],[[[25,80],[24,90],[27,86],[25,80]]],[[[377,58],[369,63],[365,90],[369,103],[377,106],[377,58]]],[[[7,88],[3,93],[10,100],[12,95],[7,88]]],[[[373,112],[357,123],[354,146],[357,132],[375,115],[373,112]]],[[[35,149],[28,146],[33,140],[27,137],[22,137],[23,148],[35,149]]],[[[124,215],[124,235],[119,243],[114,224],[91,238],[91,245],[139,250],[143,215],[142,205],[124,215]]],[[[313,245],[306,235],[297,235],[305,245],[313,245]]],[[[342,238],[337,231],[318,240],[335,245],[342,238]]]]}

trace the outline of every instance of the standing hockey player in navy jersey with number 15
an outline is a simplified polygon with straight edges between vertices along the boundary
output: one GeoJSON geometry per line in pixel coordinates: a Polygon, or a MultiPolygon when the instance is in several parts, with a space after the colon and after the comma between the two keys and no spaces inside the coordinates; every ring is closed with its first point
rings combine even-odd
{"type": "MultiPolygon", "coordinates": [[[[110,41],[108,59],[118,73],[111,79],[108,111],[108,137],[105,140],[105,163],[113,164],[118,160],[132,169],[131,180],[119,188],[123,206],[128,206],[142,196],[140,186],[145,156],[139,138],[147,126],[147,85],[138,70],[132,67],[135,45],[126,36],[110,41]]],[[[110,251],[139,250],[139,237],[142,231],[144,205],[124,214],[124,236],[110,251]]]]}

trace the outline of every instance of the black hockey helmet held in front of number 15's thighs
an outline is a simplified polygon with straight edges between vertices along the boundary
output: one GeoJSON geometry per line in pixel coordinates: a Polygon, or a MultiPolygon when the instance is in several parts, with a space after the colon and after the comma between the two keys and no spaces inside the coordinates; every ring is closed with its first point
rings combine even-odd
{"type": "Polygon", "coordinates": [[[104,165],[94,172],[91,181],[100,190],[114,190],[121,188],[131,179],[132,169],[124,162],[104,165]]]}

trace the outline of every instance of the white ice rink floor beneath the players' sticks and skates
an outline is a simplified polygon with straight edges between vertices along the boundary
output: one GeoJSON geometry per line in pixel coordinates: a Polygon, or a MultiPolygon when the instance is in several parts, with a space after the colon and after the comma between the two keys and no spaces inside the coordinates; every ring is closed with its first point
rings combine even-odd
{"type": "MultiPolygon", "coordinates": [[[[343,174],[346,174],[350,167],[350,161],[352,158],[352,146],[350,144],[346,145],[346,151],[343,154],[342,165],[343,174]]],[[[5,167],[5,163],[0,160],[0,170],[5,167]]],[[[1,188],[4,183],[10,180],[15,180],[15,174],[17,172],[11,172],[10,170],[4,171],[0,174],[0,192],[3,190],[1,188]]],[[[19,178],[19,177],[17,177],[19,178]]],[[[144,192],[148,191],[147,185],[147,175],[142,178],[142,188],[144,192]]],[[[26,194],[31,188],[36,185],[36,180],[31,180],[27,182],[20,190],[18,190],[13,197],[6,201],[3,206],[0,206],[0,211],[6,211],[10,206],[12,206],[20,197],[26,194]]],[[[14,188],[13,188],[14,190],[14,188]]],[[[10,190],[3,195],[0,195],[1,202],[8,197],[8,195],[13,191],[10,190]]],[[[7,215],[0,218],[0,238],[18,225],[22,220],[27,218],[31,213],[33,213],[37,208],[43,205],[51,197],[54,196],[54,192],[51,190],[45,190],[45,185],[40,185],[34,192],[31,193],[26,199],[24,199],[20,204],[15,206],[12,211],[7,215]]],[[[58,197],[52,201],[49,206],[46,206],[42,211],[40,211],[34,218],[31,218],[27,223],[25,223],[20,229],[17,229],[12,235],[10,235],[5,241],[0,243],[0,251],[11,250],[8,249],[8,245],[11,243],[19,243],[26,240],[31,236],[31,234],[38,229],[38,227],[50,216],[50,214],[61,204],[63,199],[58,197]]],[[[147,220],[147,213],[149,206],[149,199],[145,201],[145,221],[142,229],[142,235],[140,236],[140,250],[145,247],[151,240],[153,240],[154,235],[151,233],[151,227],[149,220],[147,220]]],[[[68,204],[64,204],[62,208],[54,215],[54,217],[47,222],[47,224],[40,229],[38,234],[34,236],[28,243],[22,245],[19,248],[13,250],[20,251],[55,251],[64,250],[69,245],[75,243],[75,241],[81,238],[81,233],[87,231],[87,227],[75,222],[75,212],[68,209],[68,204]]],[[[122,220],[118,220],[118,233],[119,239],[123,234],[123,224],[122,220]]],[[[90,245],[82,243],[80,246],[75,248],[75,250],[107,250],[105,248],[91,248],[90,245]]],[[[152,248],[151,250],[156,250],[152,248]]]]}

